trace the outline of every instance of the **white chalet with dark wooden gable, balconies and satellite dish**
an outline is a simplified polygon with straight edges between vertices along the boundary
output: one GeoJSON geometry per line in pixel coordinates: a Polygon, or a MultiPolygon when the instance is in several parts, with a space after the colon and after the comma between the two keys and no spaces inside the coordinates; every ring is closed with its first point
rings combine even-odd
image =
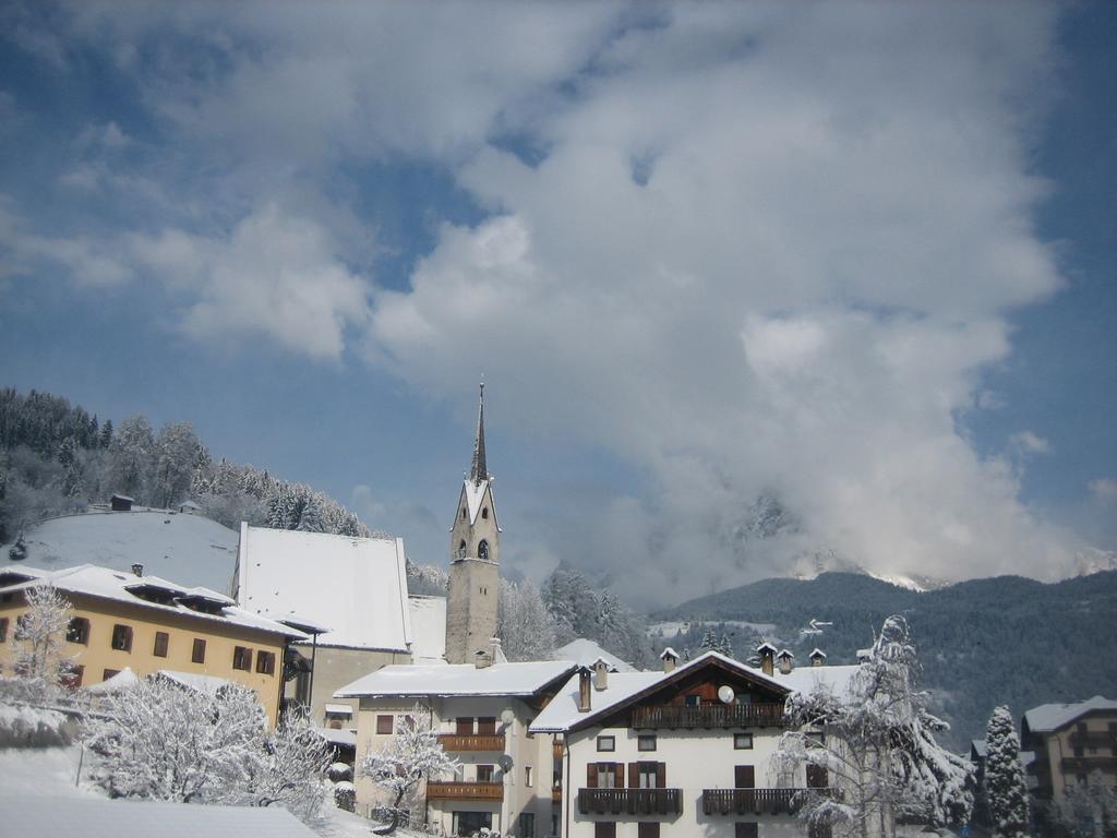
{"type": "MultiPolygon", "coordinates": [[[[796,791],[825,788],[824,771],[776,772],[773,756],[793,692],[844,689],[856,666],[777,672],[715,651],[662,672],[580,669],[532,731],[562,736],[561,835],[566,838],[757,838],[802,835],[796,791]]],[[[790,660],[786,661],[790,667],[790,660]]]]}

